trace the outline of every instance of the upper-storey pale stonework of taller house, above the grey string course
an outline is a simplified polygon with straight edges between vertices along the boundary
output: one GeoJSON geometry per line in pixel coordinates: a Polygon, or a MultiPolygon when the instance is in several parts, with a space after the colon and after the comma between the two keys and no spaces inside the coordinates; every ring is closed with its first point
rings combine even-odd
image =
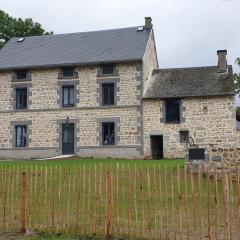
{"type": "Polygon", "coordinates": [[[100,66],[79,66],[76,68],[78,77],[74,79],[58,79],[59,68],[35,69],[30,74],[32,81],[12,82],[13,72],[0,73],[0,111],[12,110],[14,106],[14,86],[31,84],[31,104],[29,109],[56,109],[59,108],[59,88],[61,82],[77,81],[76,98],[79,99],[76,107],[99,106],[98,79],[120,79],[118,81],[118,105],[140,104],[140,81],[137,78],[141,72],[141,63],[117,64],[117,76],[97,77],[100,66]]]}

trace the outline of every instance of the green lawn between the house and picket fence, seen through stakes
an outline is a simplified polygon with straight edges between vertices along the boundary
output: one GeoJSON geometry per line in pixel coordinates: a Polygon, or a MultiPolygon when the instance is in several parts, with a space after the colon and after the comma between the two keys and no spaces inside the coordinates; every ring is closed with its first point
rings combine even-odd
{"type": "MultiPolygon", "coordinates": [[[[140,236],[149,234],[149,236],[154,237],[156,234],[155,219],[157,219],[158,234],[160,229],[171,232],[178,227],[178,211],[180,207],[179,187],[183,197],[181,203],[183,226],[186,226],[185,212],[186,207],[188,207],[190,232],[195,231],[195,226],[197,231],[200,230],[201,209],[203,210],[203,218],[205,220],[208,219],[208,211],[210,211],[211,225],[213,228],[216,219],[215,183],[213,179],[210,179],[208,193],[207,181],[206,178],[203,177],[201,208],[198,177],[193,176],[192,178],[187,175],[185,182],[183,166],[184,160],[174,159],[153,161],[68,158],[48,161],[28,160],[0,162],[0,168],[2,169],[0,169],[0,173],[2,173],[0,174],[0,228],[4,226],[2,220],[4,215],[9,224],[9,229],[11,229],[11,227],[13,229],[15,227],[16,229],[16,226],[20,223],[22,167],[27,172],[28,228],[43,232],[55,232],[56,229],[51,228],[53,218],[52,210],[54,209],[54,227],[56,228],[56,223],[58,222],[60,232],[64,234],[66,232],[68,234],[76,232],[76,219],[78,216],[80,226],[78,235],[85,237],[83,239],[97,239],[92,238],[94,224],[96,226],[96,237],[102,236],[104,234],[104,228],[106,227],[106,216],[109,211],[109,194],[112,194],[113,197],[113,221],[116,231],[116,196],[118,191],[118,214],[121,236],[126,236],[129,230],[128,225],[130,225],[132,234],[136,233],[138,227],[140,236]],[[37,172],[35,172],[36,166],[37,172]],[[119,166],[118,172],[116,171],[117,166],[119,166]],[[178,166],[180,167],[180,179],[177,175],[178,166]],[[20,173],[18,175],[16,170],[19,167],[20,173]],[[107,175],[105,174],[105,167],[107,171],[113,171],[112,193],[108,191],[109,185],[106,181],[107,175]],[[159,171],[159,168],[161,171],[159,171]],[[156,176],[154,175],[154,169],[156,176]],[[46,171],[47,174],[45,174],[46,171]],[[178,184],[179,181],[180,184],[178,184]],[[186,189],[188,199],[186,199],[186,189]],[[60,201],[59,190],[61,191],[60,201]],[[209,206],[208,201],[210,202],[209,206]],[[35,208],[33,206],[35,206],[35,208]],[[2,211],[2,209],[4,209],[4,211],[2,211]],[[60,218],[57,216],[58,212],[60,218]],[[78,213],[79,215],[77,215],[78,213]],[[194,214],[196,216],[195,220],[193,219],[194,214]],[[161,218],[162,226],[160,226],[161,218]]],[[[233,198],[235,199],[235,185],[233,185],[233,190],[233,198]]],[[[219,226],[223,227],[224,198],[221,182],[218,183],[217,191],[219,194],[219,214],[221,220],[219,226]]],[[[236,205],[233,206],[233,209],[235,209],[235,207],[236,205]]],[[[234,214],[236,213],[237,211],[234,211],[234,214]]],[[[207,223],[207,221],[204,221],[205,234],[207,234],[207,223]]],[[[186,229],[184,229],[184,231],[186,231],[186,229]]],[[[28,239],[55,240],[69,238],[70,240],[71,236],[68,236],[69,235],[56,236],[40,234],[29,237],[28,239]]],[[[174,236],[172,236],[172,238],[174,238],[174,236]]],[[[171,236],[169,239],[171,239],[171,236]]]]}

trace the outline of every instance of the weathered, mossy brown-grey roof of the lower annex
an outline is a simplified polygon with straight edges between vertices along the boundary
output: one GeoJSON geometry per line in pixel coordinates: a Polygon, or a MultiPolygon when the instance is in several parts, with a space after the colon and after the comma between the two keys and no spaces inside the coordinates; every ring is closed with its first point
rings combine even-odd
{"type": "Polygon", "coordinates": [[[232,66],[156,69],[146,83],[144,98],[184,98],[235,95],[232,66]]]}

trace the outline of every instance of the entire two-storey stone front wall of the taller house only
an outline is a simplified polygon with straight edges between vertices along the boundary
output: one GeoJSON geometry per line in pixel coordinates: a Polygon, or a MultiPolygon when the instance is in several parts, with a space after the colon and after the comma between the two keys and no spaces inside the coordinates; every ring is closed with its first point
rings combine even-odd
{"type": "Polygon", "coordinates": [[[13,72],[0,73],[0,158],[41,158],[61,154],[59,122],[74,121],[75,153],[79,156],[140,158],[142,149],[142,65],[140,62],[117,64],[114,76],[99,76],[100,66],[79,66],[78,77],[58,79],[60,69],[31,70],[29,109],[16,111],[14,87],[29,84],[12,82],[13,72]],[[100,102],[101,81],[116,82],[117,104],[104,107],[100,102]],[[76,105],[62,108],[60,87],[64,82],[75,84],[76,105]],[[101,146],[99,119],[118,118],[115,146],[101,146]],[[15,148],[11,122],[28,125],[27,148],[15,148]]]}

